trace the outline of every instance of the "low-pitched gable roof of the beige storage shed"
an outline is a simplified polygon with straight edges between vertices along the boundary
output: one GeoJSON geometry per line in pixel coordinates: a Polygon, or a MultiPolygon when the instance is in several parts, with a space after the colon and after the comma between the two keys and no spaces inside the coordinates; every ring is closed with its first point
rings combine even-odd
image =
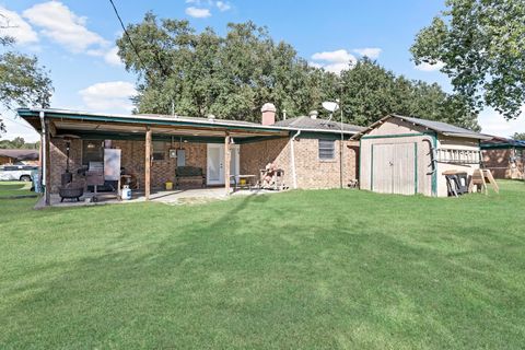
{"type": "Polygon", "coordinates": [[[469,129],[456,127],[454,125],[443,122],[443,121],[421,119],[421,118],[415,118],[415,117],[405,117],[405,116],[392,114],[372,124],[369,128],[366,128],[366,130],[354,135],[353,139],[360,139],[363,135],[375,129],[377,126],[380,126],[381,124],[383,124],[385,120],[389,118],[397,118],[400,120],[405,120],[405,121],[418,125],[420,127],[427,128],[429,130],[435,131],[438,133],[442,133],[444,136],[477,139],[477,140],[488,140],[492,138],[491,136],[479,133],[469,129]]]}

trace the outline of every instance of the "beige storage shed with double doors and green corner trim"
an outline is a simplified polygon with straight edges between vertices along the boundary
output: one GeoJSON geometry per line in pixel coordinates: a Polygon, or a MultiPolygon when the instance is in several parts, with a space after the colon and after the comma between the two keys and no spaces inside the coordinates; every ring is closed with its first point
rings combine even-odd
{"type": "Polygon", "coordinates": [[[447,196],[446,171],[468,176],[490,137],[446,122],[388,115],[357,133],[360,188],[383,194],[447,196]]]}

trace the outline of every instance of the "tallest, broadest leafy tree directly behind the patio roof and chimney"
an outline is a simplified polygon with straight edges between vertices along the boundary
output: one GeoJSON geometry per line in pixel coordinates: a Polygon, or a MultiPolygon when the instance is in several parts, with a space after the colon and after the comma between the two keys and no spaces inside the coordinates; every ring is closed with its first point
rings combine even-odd
{"type": "Polygon", "coordinates": [[[310,67],[291,45],[276,44],[253,22],[231,23],[221,37],[147,13],[127,32],[135,47],[125,36],[117,46],[126,68],[139,74],[140,113],[170,114],[174,105],[182,115],[258,121],[266,102],[300,115],[334,91],[335,77],[310,67]]]}

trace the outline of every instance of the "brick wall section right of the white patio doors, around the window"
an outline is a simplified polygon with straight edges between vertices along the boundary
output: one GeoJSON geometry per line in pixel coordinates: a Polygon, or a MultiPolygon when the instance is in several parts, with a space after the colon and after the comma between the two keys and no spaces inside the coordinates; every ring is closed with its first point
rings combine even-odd
{"type": "MultiPolygon", "coordinates": [[[[290,142],[289,138],[282,138],[242,144],[241,173],[258,176],[259,170],[273,162],[284,170],[284,183],[293,188],[290,142]]],[[[318,139],[299,138],[294,141],[298,188],[339,187],[339,144],[340,141],[336,140],[334,160],[320,161],[318,139]]],[[[358,145],[355,141],[343,141],[343,186],[357,178],[358,145]]]]}

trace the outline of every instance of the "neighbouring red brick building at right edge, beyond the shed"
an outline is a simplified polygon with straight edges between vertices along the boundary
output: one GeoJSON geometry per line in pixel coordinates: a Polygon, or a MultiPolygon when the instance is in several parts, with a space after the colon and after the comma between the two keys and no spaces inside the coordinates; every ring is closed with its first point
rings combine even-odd
{"type": "Polygon", "coordinates": [[[481,142],[483,166],[495,178],[523,178],[525,176],[525,141],[493,137],[481,142]]]}

